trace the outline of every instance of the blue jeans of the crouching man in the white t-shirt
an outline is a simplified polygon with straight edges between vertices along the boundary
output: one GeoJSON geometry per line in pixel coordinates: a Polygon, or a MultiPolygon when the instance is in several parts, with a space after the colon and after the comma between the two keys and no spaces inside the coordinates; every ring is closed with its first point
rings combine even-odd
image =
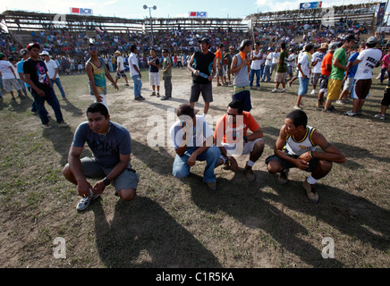
{"type": "MultiPolygon", "coordinates": [[[[191,154],[198,149],[199,147],[188,147],[183,156],[176,155],[174,157],[174,168],[172,173],[178,179],[187,177],[190,174],[190,166],[187,164],[188,159],[191,154]]],[[[208,149],[199,154],[197,161],[206,161],[205,172],[203,172],[203,181],[204,182],[216,182],[216,175],[214,174],[214,169],[218,165],[219,156],[221,156],[221,151],[215,145],[208,147],[208,149]]]]}

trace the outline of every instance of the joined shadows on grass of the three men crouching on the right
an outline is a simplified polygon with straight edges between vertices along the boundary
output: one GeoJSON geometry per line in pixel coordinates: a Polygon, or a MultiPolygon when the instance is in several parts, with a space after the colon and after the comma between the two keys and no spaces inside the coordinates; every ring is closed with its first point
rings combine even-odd
{"type": "MultiPolygon", "coordinates": [[[[210,193],[206,188],[199,188],[202,178],[194,175],[189,178],[192,199],[201,209],[214,213],[216,209],[224,211],[250,228],[262,229],[281,247],[313,267],[343,267],[337,259],[324,259],[319,248],[323,248],[321,241],[315,247],[308,241],[302,240],[301,235],[309,235],[309,231],[298,221],[284,214],[281,210],[268,203],[272,200],[282,203],[288,208],[317,221],[357,238],[372,248],[388,251],[390,243],[390,226],[388,218],[390,212],[372,204],[365,198],[354,196],[343,189],[322,185],[318,182],[317,189],[320,196],[319,204],[312,204],[301,188],[301,181],[289,181],[280,186],[277,177],[268,172],[254,171],[257,181],[245,181],[243,172],[238,172],[232,180],[218,178],[218,190],[210,193]],[[241,178],[240,178],[241,177],[241,178]],[[263,191],[266,187],[274,192],[263,191]]],[[[338,241],[339,249],[343,248],[343,241],[338,241]]],[[[348,242],[344,246],[347,247],[348,242]]],[[[336,257],[337,258],[337,257],[336,257]]]]}

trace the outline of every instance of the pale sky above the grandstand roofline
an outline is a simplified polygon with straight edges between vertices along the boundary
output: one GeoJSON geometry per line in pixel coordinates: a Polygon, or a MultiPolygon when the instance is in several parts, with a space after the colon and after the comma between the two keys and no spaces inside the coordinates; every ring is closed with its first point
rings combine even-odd
{"type": "MultiPolygon", "coordinates": [[[[299,9],[300,3],[313,1],[297,0],[85,0],[85,1],[52,1],[52,0],[1,0],[0,12],[5,10],[22,10],[37,13],[70,13],[71,7],[89,8],[95,16],[108,16],[130,19],[149,17],[148,7],[157,6],[151,10],[153,18],[188,17],[189,12],[207,12],[208,18],[244,18],[251,13],[266,13],[272,11],[299,9]]],[[[340,4],[361,4],[372,1],[362,0],[326,0],[323,7],[340,4]]],[[[386,2],[385,0],[383,2],[386,2]]]]}

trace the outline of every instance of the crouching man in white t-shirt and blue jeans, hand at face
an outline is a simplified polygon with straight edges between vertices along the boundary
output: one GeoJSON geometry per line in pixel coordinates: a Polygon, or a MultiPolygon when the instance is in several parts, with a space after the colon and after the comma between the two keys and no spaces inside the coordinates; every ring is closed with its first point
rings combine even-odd
{"type": "Polygon", "coordinates": [[[213,145],[213,131],[208,127],[204,117],[197,115],[199,110],[191,105],[180,105],[177,109],[179,121],[174,122],[169,133],[176,151],[173,174],[182,179],[190,174],[196,161],[207,161],[203,181],[208,189],[216,190],[214,169],[222,164],[221,151],[213,145]]]}

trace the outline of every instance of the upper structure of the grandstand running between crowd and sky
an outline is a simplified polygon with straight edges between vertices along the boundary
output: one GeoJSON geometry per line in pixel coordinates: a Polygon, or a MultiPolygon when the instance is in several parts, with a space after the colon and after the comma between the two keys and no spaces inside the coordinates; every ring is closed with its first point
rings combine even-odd
{"type": "Polygon", "coordinates": [[[13,38],[28,37],[33,31],[62,30],[67,33],[83,32],[89,37],[96,36],[97,32],[108,33],[142,33],[185,29],[200,35],[216,29],[233,32],[253,32],[254,29],[265,24],[285,24],[318,22],[332,10],[329,21],[348,19],[358,21],[375,28],[377,3],[350,4],[309,10],[289,10],[280,12],[253,13],[244,19],[219,18],[145,18],[125,19],[117,17],[103,17],[78,14],[32,13],[24,11],[5,11],[0,14],[0,23],[3,30],[7,30],[13,38]],[[16,37],[18,36],[18,37],[16,37]]]}

